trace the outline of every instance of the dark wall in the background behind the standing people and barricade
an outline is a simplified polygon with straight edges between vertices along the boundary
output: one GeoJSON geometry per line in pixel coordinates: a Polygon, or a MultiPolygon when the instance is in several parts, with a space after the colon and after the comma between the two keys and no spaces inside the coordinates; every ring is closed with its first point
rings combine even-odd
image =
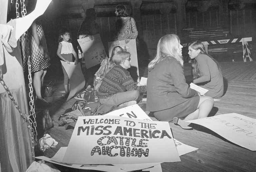
{"type": "MultiPolygon", "coordinates": [[[[35,5],[34,0],[27,0],[28,13],[35,5]]],[[[182,43],[193,39],[211,41],[221,38],[252,37],[249,47],[254,59],[256,38],[256,1],[255,0],[53,0],[46,12],[40,17],[43,20],[47,44],[52,57],[52,65],[60,65],[56,51],[58,34],[62,26],[68,27],[72,39],[76,40],[78,28],[85,17],[87,8],[95,8],[97,23],[103,45],[113,40],[115,33],[115,7],[123,4],[137,25],[140,40],[138,61],[147,65],[148,59],[154,57],[158,40],[166,34],[177,34],[182,43]],[[185,30],[184,30],[185,29],[185,30]],[[189,30],[196,29],[212,33],[223,30],[226,34],[213,33],[212,37],[191,39],[189,30]]],[[[16,18],[15,3],[10,4],[9,19],[16,18]]],[[[219,48],[219,47],[217,47],[219,48]]],[[[216,49],[213,47],[212,49],[216,49]]],[[[211,55],[218,61],[243,61],[242,45],[222,45],[220,53],[211,55]],[[238,50],[235,52],[235,50],[238,50]],[[235,52],[235,53],[234,53],[235,52]]],[[[187,62],[187,47],[183,49],[184,61],[187,62]]],[[[53,69],[55,70],[55,69],[53,69]]],[[[60,70],[61,71],[61,70],[60,70]]]]}

